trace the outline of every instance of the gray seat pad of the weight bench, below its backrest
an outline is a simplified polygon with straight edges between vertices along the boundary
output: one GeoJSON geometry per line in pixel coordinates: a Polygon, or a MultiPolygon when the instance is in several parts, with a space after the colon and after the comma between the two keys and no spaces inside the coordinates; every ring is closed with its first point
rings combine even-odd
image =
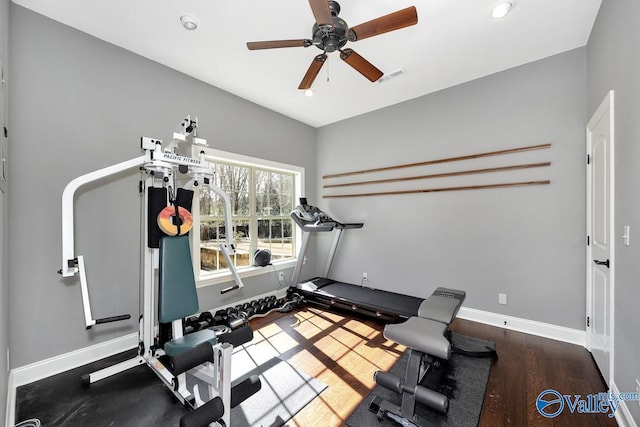
{"type": "Polygon", "coordinates": [[[403,323],[384,327],[386,339],[402,344],[430,356],[449,360],[451,343],[445,338],[448,326],[422,317],[410,317],[403,323]]]}

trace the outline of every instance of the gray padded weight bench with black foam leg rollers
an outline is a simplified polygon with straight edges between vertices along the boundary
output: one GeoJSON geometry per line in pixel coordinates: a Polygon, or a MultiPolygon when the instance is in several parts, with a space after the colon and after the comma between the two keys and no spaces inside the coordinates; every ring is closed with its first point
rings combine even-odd
{"type": "MultiPolygon", "coordinates": [[[[442,413],[447,412],[448,398],[421,386],[420,382],[438,360],[449,360],[452,353],[457,352],[451,343],[449,324],[455,319],[465,297],[464,291],[437,288],[420,304],[418,316],[410,317],[403,323],[385,326],[384,337],[406,346],[409,361],[404,378],[384,371],[374,373],[376,384],[402,397],[401,404],[396,405],[374,396],[369,410],[376,413],[378,419],[388,418],[409,427],[427,425],[425,420],[416,415],[416,402],[442,413]]],[[[485,357],[487,355],[484,354],[485,357]]]]}

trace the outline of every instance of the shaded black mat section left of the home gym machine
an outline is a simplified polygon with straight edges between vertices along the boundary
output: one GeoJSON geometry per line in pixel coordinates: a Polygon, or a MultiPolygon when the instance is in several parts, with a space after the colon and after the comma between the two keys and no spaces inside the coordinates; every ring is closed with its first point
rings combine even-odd
{"type": "Polygon", "coordinates": [[[135,356],[136,352],[81,366],[16,390],[16,423],[37,418],[52,426],[177,426],[187,410],[146,365],[85,388],[81,376],[135,356]]]}

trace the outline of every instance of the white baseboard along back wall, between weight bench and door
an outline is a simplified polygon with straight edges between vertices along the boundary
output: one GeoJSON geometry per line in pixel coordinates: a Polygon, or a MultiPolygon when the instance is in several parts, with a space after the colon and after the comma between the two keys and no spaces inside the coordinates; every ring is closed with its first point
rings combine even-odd
{"type": "Polygon", "coordinates": [[[460,311],[458,311],[458,317],[465,320],[484,323],[486,325],[497,326],[499,328],[524,332],[526,334],[537,335],[544,338],[551,338],[570,344],[577,344],[582,347],[584,347],[586,343],[585,331],[552,325],[550,323],[491,313],[489,311],[476,310],[468,307],[461,307],[460,311]]]}

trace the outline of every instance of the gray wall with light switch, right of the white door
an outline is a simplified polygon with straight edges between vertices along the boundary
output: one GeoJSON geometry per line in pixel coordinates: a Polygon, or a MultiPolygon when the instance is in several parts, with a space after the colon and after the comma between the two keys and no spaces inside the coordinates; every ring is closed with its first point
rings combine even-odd
{"type": "MultiPolygon", "coordinates": [[[[615,236],[631,226],[631,245],[615,240],[615,378],[620,391],[635,391],[640,378],[640,3],[604,0],[589,39],[588,117],[615,91],[615,236]],[[635,237],[635,238],[634,238],[635,237]]],[[[636,423],[640,409],[627,402],[636,423]]]]}

